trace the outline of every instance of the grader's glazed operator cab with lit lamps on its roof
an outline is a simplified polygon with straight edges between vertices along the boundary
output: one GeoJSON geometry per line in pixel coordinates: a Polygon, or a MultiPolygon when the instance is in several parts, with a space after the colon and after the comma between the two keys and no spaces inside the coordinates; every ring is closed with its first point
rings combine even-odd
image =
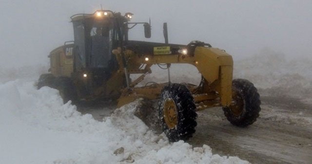
{"type": "Polygon", "coordinates": [[[102,70],[111,73],[116,70],[117,61],[112,50],[120,44],[120,37],[123,39],[126,35],[119,25],[126,19],[115,18],[108,11],[74,15],[71,18],[75,39],[75,71],[102,70]]]}

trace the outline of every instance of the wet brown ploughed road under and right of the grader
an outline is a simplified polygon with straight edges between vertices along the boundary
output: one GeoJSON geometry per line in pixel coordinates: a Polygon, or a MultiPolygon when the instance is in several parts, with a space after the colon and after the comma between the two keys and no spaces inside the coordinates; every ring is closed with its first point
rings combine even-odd
{"type": "MultiPolygon", "coordinates": [[[[253,164],[312,164],[312,104],[285,97],[261,97],[261,102],[260,117],[247,128],[230,124],[220,108],[198,112],[196,132],[188,143],[207,144],[213,153],[237,156],[253,164]]],[[[114,108],[78,110],[101,121],[114,108]]],[[[155,124],[149,126],[160,133],[155,124]]]]}

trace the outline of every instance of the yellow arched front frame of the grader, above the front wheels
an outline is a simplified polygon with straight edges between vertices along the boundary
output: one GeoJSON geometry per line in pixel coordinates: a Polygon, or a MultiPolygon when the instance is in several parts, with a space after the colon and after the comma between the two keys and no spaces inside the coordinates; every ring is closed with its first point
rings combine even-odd
{"type": "Polygon", "coordinates": [[[183,54],[168,55],[144,55],[138,56],[131,50],[126,50],[124,54],[120,49],[113,51],[117,60],[120,61],[119,71],[124,70],[122,56],[127,61],[129,74],[142,74],[122,91],[118,100],[118,107],[135,101],[137,98],[157,99],[164,85],[168,83],[152,84],[144,87],[135,87],[141,82],[145,75],[151,73],[150,67],[156,63],[189,63],[194,65],[202,74],[202,85],[195,86],[187,84],[193,93],[197,110],[214,106],[228,106],[232,102],[232,79],[233,79],[233,59],[232,56],[218,48],[198,46],[195,48],[194,56],[183,54]],[[148,58],[148,61],[145,60],[148,58]],[[139,68],[145,64],[144,68],[139,68]]]}

